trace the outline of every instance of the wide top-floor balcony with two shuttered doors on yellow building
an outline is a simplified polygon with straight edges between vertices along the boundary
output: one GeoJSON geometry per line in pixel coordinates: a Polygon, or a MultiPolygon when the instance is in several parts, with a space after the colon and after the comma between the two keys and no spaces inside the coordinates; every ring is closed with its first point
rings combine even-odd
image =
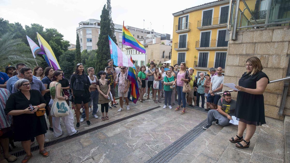
{"type": "Polygon", "coordinates": [[[222,17],[215,17],[210,19],[203,19],[197,21],[197,29],[204,30],[210,28],[226,27],[228,21],[228,15],[222,17]]]}

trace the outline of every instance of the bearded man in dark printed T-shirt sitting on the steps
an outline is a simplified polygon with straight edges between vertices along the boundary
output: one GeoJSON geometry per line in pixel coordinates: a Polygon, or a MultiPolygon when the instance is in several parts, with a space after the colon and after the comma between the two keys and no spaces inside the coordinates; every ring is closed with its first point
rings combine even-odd
{"type": "Polygon", "coordinates": [[[229,91],[224,91],[222,94],[224,98],[218,101],[218,110],[209,110],[207,113],[207,125],[202,127],[203,129],[208,129],[212,122],[216,121],[216,125],[228,126],[231,123],[232,115],[235,113],[236,101],[231,99],[231,93],[229,91]]]}

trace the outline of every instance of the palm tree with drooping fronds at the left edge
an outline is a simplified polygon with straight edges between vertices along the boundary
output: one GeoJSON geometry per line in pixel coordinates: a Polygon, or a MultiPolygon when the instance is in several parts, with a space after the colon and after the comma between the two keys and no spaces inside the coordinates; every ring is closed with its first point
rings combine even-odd
{"type": "MultiPolygon", "coordinates": [[[[0,38],[0,71],[4,71],[6,66],[15,66],[18,63],[24,63],[26,66],[34,68],[36,66],[30,47],[22,39],[13,39],[15,34],[5,33],[0,38]]],[[[35,58],[38,63],[41,57],[35,58]]]]}

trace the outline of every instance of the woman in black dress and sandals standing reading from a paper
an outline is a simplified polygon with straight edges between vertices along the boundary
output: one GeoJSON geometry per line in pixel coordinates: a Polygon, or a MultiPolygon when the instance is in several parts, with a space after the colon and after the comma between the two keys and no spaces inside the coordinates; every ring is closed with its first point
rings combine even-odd
{"type": "Polygon", "coordinates": [[[237,142],[236,146],[239,148],[248,148],[256,126],[266,124],[263,93],[269,78],[262,72],[263,67],[259,58],[247,59],[245,66],[247,72],[242,75],[239,85],[235,86],[239,90],[235,109],[235,116],[239,121],[238,134],[230,138],[231,142],[237,142]],[[243,139],[246,128],[247,133],[243,139]]]}

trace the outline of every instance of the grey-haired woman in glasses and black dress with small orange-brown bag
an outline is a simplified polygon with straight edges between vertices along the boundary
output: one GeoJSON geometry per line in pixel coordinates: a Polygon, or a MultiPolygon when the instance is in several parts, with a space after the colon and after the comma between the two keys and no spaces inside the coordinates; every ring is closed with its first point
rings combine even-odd
{"type": "Polygon", "coordinates": [[[46,101],[39,90],[30,89],[30,82],[26,79],[19,79],[14,86],[18,92],[12,93],[8,98],[5,113],[13,116],[14,141],[21,141],[27,154],[22,162],[27,162],[32,157],[30,142],[34,137],[39,144],[39,154],[47,157],[49,153],[44,149],[44,134],[47,130],[45,116],[37,116],[35,113],[46,106],[46,101]]]}

